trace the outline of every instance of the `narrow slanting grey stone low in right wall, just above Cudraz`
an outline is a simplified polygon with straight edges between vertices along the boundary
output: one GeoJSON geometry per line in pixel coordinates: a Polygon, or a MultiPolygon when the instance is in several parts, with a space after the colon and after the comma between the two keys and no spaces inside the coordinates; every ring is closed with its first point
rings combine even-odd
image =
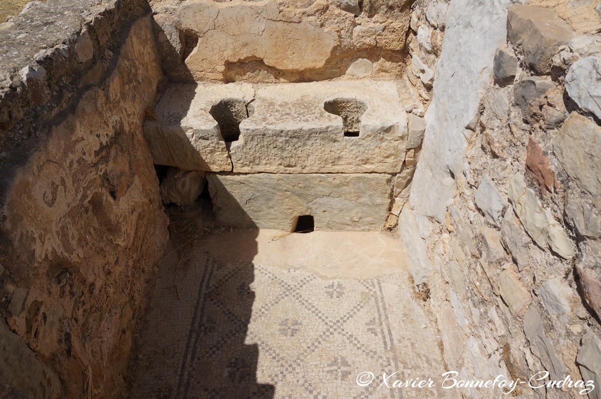
{"type": "Polygon", "coordinates": [[[528,338],[532,354],[540,359],[540,362],[551,374],[551,379],[557,381],[565,377],[563,373],[567,371],[567,368],[555,355],[553,344],[545,336],[543,321],[535,308],[528,309],[524,316],[524,334],[528,338]]]}

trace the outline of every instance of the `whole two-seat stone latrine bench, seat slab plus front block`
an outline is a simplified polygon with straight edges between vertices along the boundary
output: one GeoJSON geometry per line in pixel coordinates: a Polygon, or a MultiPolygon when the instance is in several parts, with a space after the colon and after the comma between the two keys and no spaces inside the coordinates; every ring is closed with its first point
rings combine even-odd
{"type": "Polygon", "coordinates": [[[380,230],[407,142],[391,82],[176,84],[149,117],[154,163],[206,171],[216,220],[237,227],[380,230]]]}

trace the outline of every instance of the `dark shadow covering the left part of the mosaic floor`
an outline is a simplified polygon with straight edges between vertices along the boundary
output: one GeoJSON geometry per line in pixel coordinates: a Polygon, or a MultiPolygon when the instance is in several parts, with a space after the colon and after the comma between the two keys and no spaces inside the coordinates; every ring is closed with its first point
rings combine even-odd
{"type": "Polygon", "coordinates": [[[131,397],[273,398],[272,385],[257,383],[257,345],[245,344],[255,299],[249,285],[257,230],[242,234],[236,248],[223,248],[235,251],[237,260],[223,263],[190,239],[219,228],[177,216],[171,222],[172,254],[159,265],[131,397]]]}

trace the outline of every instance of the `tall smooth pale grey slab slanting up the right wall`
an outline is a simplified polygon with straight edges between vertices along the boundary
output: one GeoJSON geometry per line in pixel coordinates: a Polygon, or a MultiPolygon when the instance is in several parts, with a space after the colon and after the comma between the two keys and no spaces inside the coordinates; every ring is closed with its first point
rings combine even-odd
{"type": "Polygon", "coordinates": [[[483,88],[492,78],[493,55],[507,40],[509,0],[452,1],[436,66],[426,133],[411,186],[416,212],[444,223],[453,201],[455,176],[472,132],[465,129],[478,114],[483,88]]]}

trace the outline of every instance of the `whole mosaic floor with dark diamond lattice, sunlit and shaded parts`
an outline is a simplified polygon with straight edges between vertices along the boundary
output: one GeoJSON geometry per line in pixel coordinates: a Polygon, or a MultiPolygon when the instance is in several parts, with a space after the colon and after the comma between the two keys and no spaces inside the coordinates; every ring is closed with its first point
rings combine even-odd
{"type": "Polygon", "coordinates": [[[397,236],[278,234],[212,234],[160,264],[133,398],[448,397],[378,389],[382,373],[398,371],[392,383],[444,372],[397,236]],[[359,386],[365,371],[374,382],[359,386]]]}

